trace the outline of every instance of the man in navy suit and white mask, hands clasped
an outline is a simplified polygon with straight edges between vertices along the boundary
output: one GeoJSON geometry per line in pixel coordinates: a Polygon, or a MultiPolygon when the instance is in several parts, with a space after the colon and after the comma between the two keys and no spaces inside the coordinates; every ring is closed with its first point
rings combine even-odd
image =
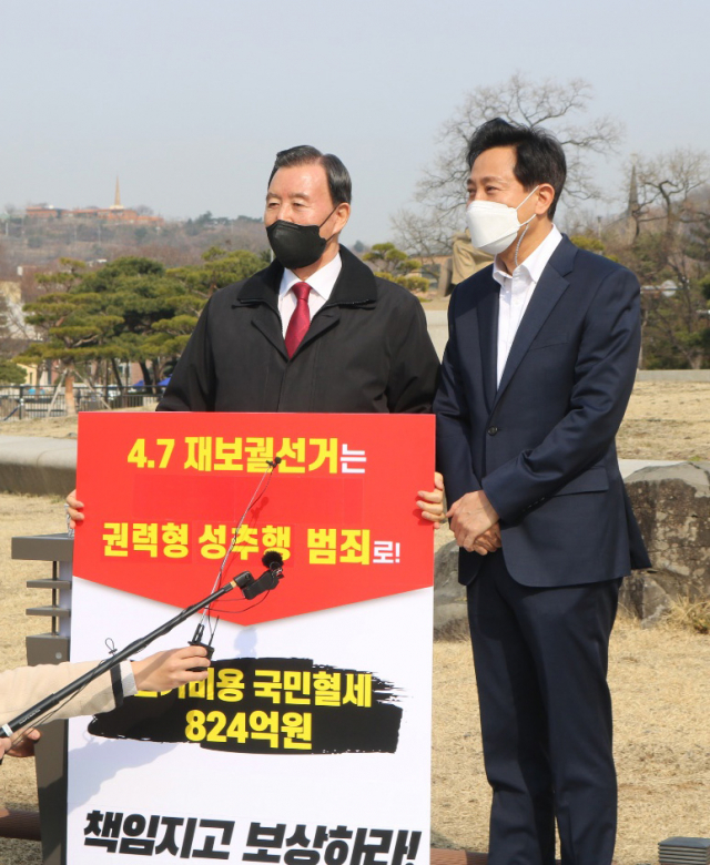
{"type": "Polygon", "coordinates": [[[607,685],[619,584],[648,567],[615,435],[638,362],[639,286],[552,223],[559,143],[474,134],[467,222],[494,264],[462,283],[435,399],[462,547],[493,787],[490,865],[609,865],[617,785],[607,685]]]}

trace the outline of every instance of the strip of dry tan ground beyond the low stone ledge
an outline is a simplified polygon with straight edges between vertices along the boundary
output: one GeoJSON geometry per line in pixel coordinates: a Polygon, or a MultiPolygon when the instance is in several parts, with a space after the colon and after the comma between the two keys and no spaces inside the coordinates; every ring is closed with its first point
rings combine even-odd
{"type": "MultiPolygon", "coordinates": [[[[75,434],[77,418],[0,424],[6,436],[75,434]]],[[[710,383],[638,381],[617,445],[626,459],[710,459],[710,383]]]]}

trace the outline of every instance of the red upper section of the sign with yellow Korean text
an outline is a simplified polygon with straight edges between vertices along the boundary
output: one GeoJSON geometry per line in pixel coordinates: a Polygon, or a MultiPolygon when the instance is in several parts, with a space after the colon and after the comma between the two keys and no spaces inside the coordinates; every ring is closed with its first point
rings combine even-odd
{"type": "Polygon", "coordinates": [[[433,541],[416,493],[433,477],[430,415],[83,413],[74,573],[186,607],[212,590],[256,493],[222,581],[257,578],[266,550],[285,578],[267,603],[227,594],[222,618],[252,624],[420,589],[433,541]]]}

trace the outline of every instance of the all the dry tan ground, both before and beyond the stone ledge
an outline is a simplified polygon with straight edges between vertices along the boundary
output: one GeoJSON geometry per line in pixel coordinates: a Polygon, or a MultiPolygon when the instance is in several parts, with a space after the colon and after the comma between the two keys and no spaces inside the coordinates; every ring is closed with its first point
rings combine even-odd
{"type": "MultiPolygon", "coordinates": [[[[0,426],[0,435],[75,435],[75,419],[0,426]]],[[[619,435],[619,455],[647,459],[710,459],[710,384],[639,383],[619,435]]],[[[10,559],[14,535],[61,531],[59,499],[0,495],[0,645],[3,665],[24,661],[23,638],[45,630],[24,615],[38,602],[26,580],[47,577],[43,562],[10,559]]],[[[450,538],[437,533],[438,547],[450,538]]],[[[434,648],[433,843],[487,847],[488,785],[483,772],[475,678],[467,641],[434,648]]],[[[621,618],[611,640],[619,773],[618,865],[658,861],[670,835],[710,836],[710,637],[621,618]]],[[[37,807],[32,761],[7,759],[8,807],[37,807]]],[[[39,845],[0,839],[2,865],[38,865],[39,845]]]]}

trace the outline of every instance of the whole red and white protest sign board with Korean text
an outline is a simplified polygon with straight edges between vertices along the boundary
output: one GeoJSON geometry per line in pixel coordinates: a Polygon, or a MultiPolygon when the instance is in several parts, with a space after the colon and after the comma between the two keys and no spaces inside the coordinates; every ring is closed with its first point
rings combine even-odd
{"type": "Polygon", "coordinates": [[[222,581],[274,549],[284,579],[215,604],[206,683],[72,722],[72,864],[428,858],[433,439],[430,416],[80,416],[72,660],[207,596],[254,493],[222,581]]]}

